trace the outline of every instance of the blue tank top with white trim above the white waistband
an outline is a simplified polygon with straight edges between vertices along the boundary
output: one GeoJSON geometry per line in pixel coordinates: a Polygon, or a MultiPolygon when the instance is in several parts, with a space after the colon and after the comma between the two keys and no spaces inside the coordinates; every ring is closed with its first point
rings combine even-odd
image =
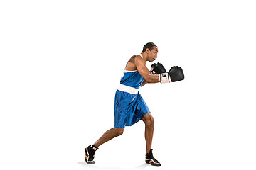
{"type": "Polygon", "coordinates": [[[131,86],[136,89],[139,89],[143,81],[144,79],[141,76],[141,74],[139,74],[138,70],[127,71],[124,69],[124,74],[120,80],[120,84],[124,84],[125,86],[131,86]]]}

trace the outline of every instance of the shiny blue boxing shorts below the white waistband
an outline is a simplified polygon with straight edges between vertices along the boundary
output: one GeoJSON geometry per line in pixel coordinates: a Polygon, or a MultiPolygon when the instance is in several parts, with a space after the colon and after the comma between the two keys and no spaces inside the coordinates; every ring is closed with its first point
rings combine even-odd
{"type": "Polygon", "coordinates": [[[131,126],[150,113],[148,106],[139,94],[129,94],[117,90],[114,98],[114,128],[131,126]]]}

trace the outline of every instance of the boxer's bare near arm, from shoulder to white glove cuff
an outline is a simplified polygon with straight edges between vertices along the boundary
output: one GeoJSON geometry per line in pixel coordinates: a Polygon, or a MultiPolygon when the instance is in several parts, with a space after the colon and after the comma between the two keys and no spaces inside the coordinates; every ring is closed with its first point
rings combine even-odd
{"type": "MultiPolygon", "coordinates": [[[[147,67],[146,67],[146,62],[144,62],[144,60],[142,60],[141,57],[139,57],[139,56],[135,57],[135,65],[137,67],[139,74],[142,75],[142,77],[144,78],[144,81],[146,81],[146,83],[158,83],[159,82],[158,76],[149,75],[149,69],[147,69],[147,67]]],[[[143,84],[143,85],[145,85],[145,84],[143,84]]]]}

